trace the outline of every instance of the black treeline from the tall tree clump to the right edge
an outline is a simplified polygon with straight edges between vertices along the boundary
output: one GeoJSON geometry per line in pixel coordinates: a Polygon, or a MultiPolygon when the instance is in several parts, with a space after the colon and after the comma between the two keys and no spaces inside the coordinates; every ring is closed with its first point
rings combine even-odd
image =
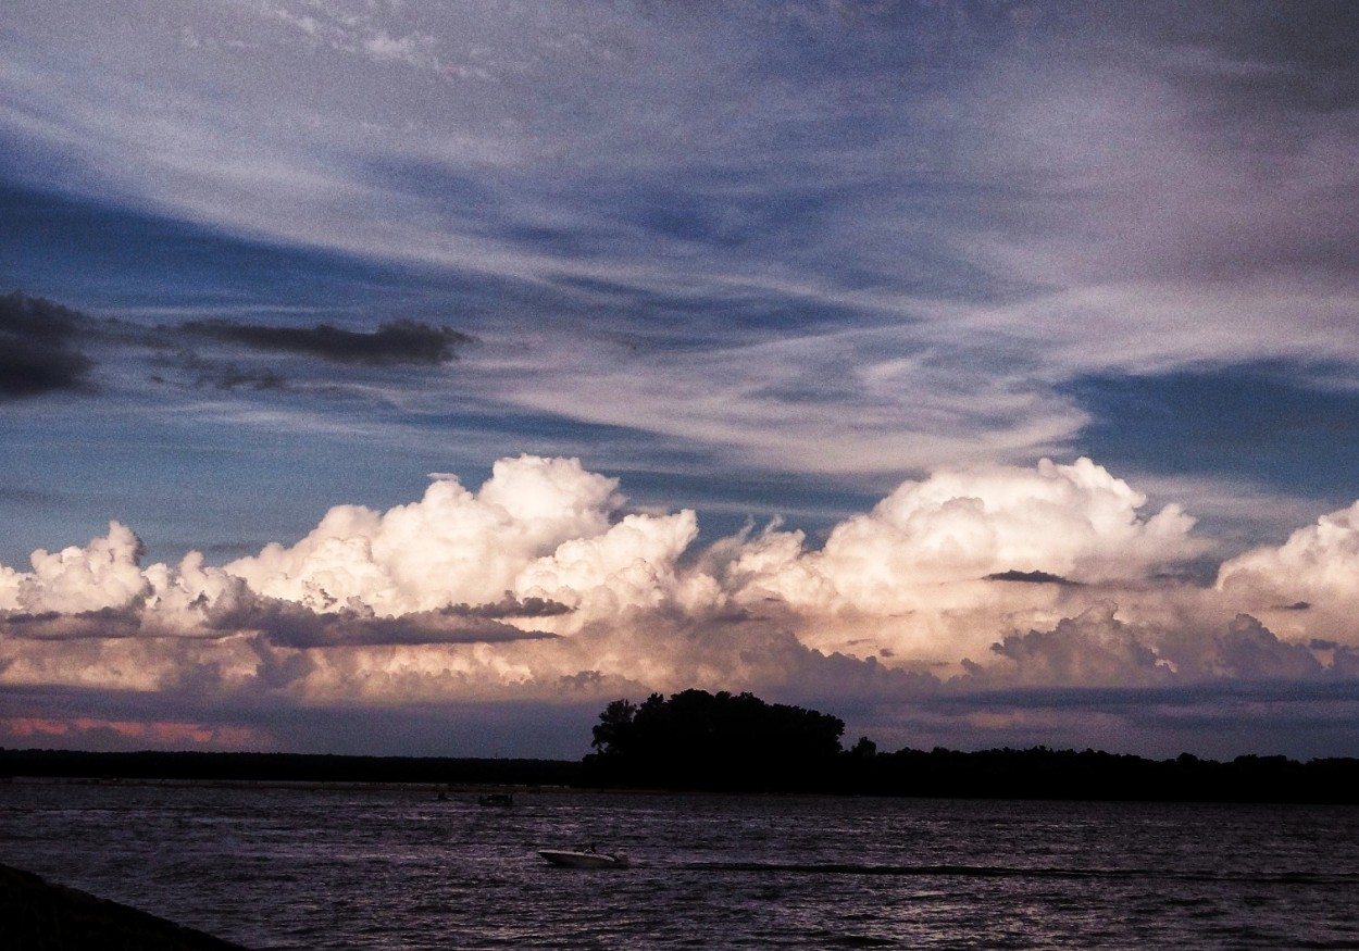
{"type": "Polygon", "coordinates": [[[1182,754],[1144,759],[1086,750],[843,750],[844,723],[749,693],[617,700],[594,727],[584,780],[601,787],[825,792],[970,799],[1359,803],[1359,759],[1182,754]]]}

